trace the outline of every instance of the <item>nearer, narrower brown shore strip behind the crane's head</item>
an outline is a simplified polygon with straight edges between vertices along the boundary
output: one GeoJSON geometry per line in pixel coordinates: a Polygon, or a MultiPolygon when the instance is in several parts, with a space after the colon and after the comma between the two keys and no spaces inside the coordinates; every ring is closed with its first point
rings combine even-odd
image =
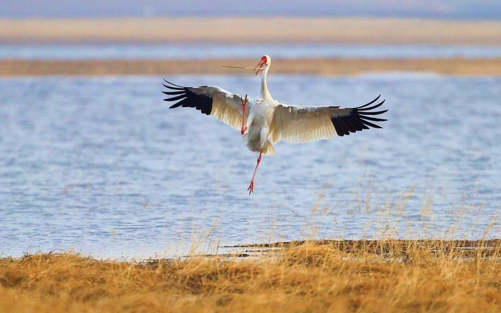
{"type": "MultiPolygon", "coordinates": [[[[251,74],[222,65],[253,66],[255,59],[204,60],[0,60],[0,76],[251,74]]],[[[501,75],[501,58],[463,59],[274,59],[276,74],[357,75],[367,72],[432,72],[447,75],[501,75]]]]}

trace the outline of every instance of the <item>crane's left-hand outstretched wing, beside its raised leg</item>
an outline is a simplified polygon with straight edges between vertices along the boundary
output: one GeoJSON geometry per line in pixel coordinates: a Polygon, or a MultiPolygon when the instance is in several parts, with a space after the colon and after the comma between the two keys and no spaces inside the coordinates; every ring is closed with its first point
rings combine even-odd
{"type": "MultiPolygon", "coordinates": [[[[165,81],[165,80],[164,80],[165,81]]],[[[170,82],[162,84],[170,91],[163,91],[164,101],[177,101],[169,109],[195,108],[204,114],[240,129],[242,123],[242,97],[217,86],[182,87],[170,82]]],[[[247,111],[248,112],[248,111],[247,111]]]]}

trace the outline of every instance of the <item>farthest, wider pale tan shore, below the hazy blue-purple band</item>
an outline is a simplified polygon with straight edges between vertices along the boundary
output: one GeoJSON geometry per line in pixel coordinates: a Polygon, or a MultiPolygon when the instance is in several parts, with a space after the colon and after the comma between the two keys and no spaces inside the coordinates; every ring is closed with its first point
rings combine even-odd
{"type": "Polygon", "coordinates": [[[499,21],[398,18],[0,19],[0,43],[501,44],[499,21]]]}

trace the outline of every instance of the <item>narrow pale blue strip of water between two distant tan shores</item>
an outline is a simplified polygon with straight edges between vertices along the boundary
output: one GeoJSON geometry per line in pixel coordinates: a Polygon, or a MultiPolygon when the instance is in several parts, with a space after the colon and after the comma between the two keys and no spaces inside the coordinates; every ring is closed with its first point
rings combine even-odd
{"type": "Polygon", "coordinates": [[[0,44],[0,59],[493,58],[501,46],[307,44],[0,44]]]}

